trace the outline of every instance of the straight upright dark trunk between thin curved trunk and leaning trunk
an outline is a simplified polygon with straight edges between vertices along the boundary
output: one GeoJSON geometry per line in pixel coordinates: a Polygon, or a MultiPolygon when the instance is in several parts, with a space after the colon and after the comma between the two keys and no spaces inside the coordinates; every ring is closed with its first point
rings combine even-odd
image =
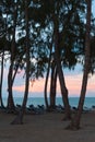
{"type": "Polygon", "coordinates": [[[50,108],[56,108],[57,67],[52,62],[50,83],[50,108]]]}

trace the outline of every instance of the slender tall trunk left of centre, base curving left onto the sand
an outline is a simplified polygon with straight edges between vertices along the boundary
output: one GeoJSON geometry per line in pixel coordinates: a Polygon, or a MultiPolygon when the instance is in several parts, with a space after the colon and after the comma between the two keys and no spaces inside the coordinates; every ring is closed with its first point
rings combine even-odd
{"type": "Polygon", "coordinates": [[[25,114],[27,97],[28,97],[28,86],[29,86],[29,31],[28,31],[28,4],[27,0],[25,0],[25,22],[26,22],[26,80],[25,80],[25,92],[24,92],[24,99],[22,104],[21,111],[19,116],[11,122],[12,125],[22,125],[23,117],[25,114]]]}

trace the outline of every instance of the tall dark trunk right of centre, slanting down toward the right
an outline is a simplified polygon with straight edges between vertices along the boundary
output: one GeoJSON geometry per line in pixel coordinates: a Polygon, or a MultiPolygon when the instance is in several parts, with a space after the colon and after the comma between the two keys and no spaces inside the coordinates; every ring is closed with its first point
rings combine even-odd
{"type": "Polygon", "coordinates": [[[64,82],[64,74],[61,67],[61,60],[59,56],[59,23],[56,19],[56,14],[54,15],[54,32],[55,32],[55,58],[57,63],[57,71],[59,75],[59,83],[61,87],[61,94],[62,94],[62,100],[64,105],[64,120],[71,119],[71,111],[70,111],[70,105],[69,105],[69,98],[68,98],[68,90],[64,82]]]}

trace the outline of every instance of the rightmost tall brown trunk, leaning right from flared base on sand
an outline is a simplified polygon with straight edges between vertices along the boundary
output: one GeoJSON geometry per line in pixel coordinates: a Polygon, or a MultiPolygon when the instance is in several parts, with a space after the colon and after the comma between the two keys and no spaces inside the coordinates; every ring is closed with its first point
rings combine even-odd
{"type": "Polygon", "coordinates": [[[90,72],[90,47],[91,47],[91,11],[92,11],[92,0],[86,0],[87,2],[87,14],[86,14],[86,35],[85,35],[85,64],[84,64],[84,74],[82,81],[81,96],[78,106],[78,113],[73,118],[72,122],[68,129],[80,129],[81,116],[86,94],[87,78],[90,72]]]}

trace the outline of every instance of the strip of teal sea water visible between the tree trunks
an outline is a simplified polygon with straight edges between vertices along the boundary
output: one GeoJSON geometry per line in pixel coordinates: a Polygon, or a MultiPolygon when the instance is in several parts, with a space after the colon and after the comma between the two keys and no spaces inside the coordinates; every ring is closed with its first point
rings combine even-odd
{"type": "MultiPolygon", "coordinates": [[[[15,105],[22,105],[23,97],[14,97],[15,105]]],[[[79,97],[69,97],[69,103],[71,107],[76,107],[79,104],[79,97]]],[[[7,98],[3,98],[3,104],[7,105],[7,98]]],[[[27,106],[34,105],[35,107],[37,105],[45,105],[44,97],[28,97],[27,106]]],[[[56,98],[56,105],[62,105],[62,98],[57,97],[56,98]]],[[[84,102],[84,107],[92,108],[92,106],[95,106],[95,97],[86,97],[84,102]]]]}

